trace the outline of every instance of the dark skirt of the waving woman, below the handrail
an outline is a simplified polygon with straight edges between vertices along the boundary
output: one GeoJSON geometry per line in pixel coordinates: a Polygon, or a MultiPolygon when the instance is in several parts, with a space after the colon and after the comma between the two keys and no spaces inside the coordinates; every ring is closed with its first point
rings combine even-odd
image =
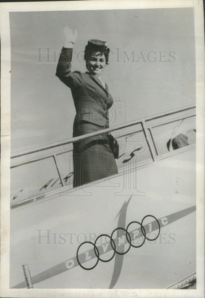
{"type": "Polygon", "coordinates": [[[108,139],[85,139],[73,143],[73,187],[117,174],[108,139]]]}

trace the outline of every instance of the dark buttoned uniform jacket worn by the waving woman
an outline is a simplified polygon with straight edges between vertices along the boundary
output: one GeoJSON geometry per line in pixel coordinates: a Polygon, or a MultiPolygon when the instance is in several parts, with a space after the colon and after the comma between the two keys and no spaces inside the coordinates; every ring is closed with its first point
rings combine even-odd
{"type": "MultiPolygon", "coordinates": [[[[71,89],[76,116],[73,136],[80,136],[109,127],[108,109],[113,104],[108,86],[102,86],[100,79],[79,71],[71,72],[72,49],[61,51],[56,76],[71,89]]],[[[101,135],[101,139],[107,138],[101,135]]]]}

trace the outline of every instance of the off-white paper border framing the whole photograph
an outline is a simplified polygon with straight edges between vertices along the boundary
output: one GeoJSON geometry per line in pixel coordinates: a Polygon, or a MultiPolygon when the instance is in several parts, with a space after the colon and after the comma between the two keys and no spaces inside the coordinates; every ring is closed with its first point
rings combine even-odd
{"type": "Polygon", "coordinates": [[[0,3],[1,18],[1,297],[204,297],[204,12],[202,0],[50,1],[0,3]],[[197,110],[197,289],[10,289],[10,25],[11,11],[194,7],[197,110]]]}

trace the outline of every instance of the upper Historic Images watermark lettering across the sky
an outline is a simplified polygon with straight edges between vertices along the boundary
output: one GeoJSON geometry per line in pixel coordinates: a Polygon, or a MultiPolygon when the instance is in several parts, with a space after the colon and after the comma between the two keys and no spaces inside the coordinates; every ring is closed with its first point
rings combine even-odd
{"type": "MultiPolygon", "coordinates": [[[[37,55],[38,58],[36,62],[38,63],[58,63],[58,59],[60,56],[60,51],[53,50],[51,47],[38,47],[37,55]]],[[[76,60],[78,62],[85,62],[84,60],[84,51],[72,51],[72,61],[76,60]]],[[[66,56],[61,57],[61,59],[65,58],[66,56]]],[[[66,61],[66,60],[65,60],[66,61]]],[[[112,62],[148,62],[148,63],[156,63],[156,62],[167,62],[173,63],[176,61],[176,51],[166,49],[160,50],[151,50],[151,51],[124,51],[122,48],[114,48],[114,51],[110,51],[109,53],[109,63],[112,62]]],[[[63,60],[61,61],[63,62],[63,60]]]]}

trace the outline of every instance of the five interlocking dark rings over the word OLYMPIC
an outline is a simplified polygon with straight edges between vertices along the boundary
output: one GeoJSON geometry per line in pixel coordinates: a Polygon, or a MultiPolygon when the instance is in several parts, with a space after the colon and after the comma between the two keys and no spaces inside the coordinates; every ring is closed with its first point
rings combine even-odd
{"type": "MultiPolygon", "coordinates": [[[[77,255],[76,255],[76,257],[77,257],[77,262],[78,262],[78,264],[80,265],[81,268],[83,268],[83,269],[85,269],[85,270],[91,270],[91,269],[93,269],[93,268],[95,268],[95,267],[97,266],[99,260],[100,260],[101,262],[109,262],[109,261],[111,261],[111,260],[114,258],[115,253],[116,253],[116,254],[126,254],[126,253],[130,250],[131,246],[134,247],[134,248],[139,248],[139,247],[141,247],[141,246],[145,243],[145,239],[147,239],[147,240],[149,240],[149,241],[154,241],[154,240],[156,240],[156,239],[159,237],[159,234],[160,234],[160,224],[159,224],[159,221],[158,221],[158,220],[156,219],[156,217],[154,217],[153,215],[146,215],[146,216],[142,219],[141,223],[139,223],[138,221],[131,221],[131,222],[128,224],[128,226],[127,226],[126,229],[124,229],[124,228],[120,228],[120,227],[114,229],[114,231],[112,232],[111,236],[109,236],[109,235],[107,235],[107,234],[101,234],[100,236],[98,236],[98,237],[96,238],[95,243],[92,243],[92,242],[90,242],[90,241],[85,241],[85,242],[81,243],[80,246],[79,246],[78,249],[77,249],[77,255]],[[147,217],[153,217],[153,218],[156,220],[156,222],[157,222],[157,224],[158,224],[158,226],[159,226],[159,232],[158,232],[158,235],[157,235],[155,238],[152,238],[152,239],[150,239],[150,238],[148,238],[148,237],[146,236],[145,228],[144,228],[144,226],[142,225],[143,221],[144,221],[145,218],[147,218],[147,217]],[[132,242],[132,240],[131,240],[131,236],[130,236],[130,234],[129,234],[129,232],[128,232],[128,228],[129,228],[129,226],[130,226],[131,224],[134,224],[134,223],[140,225],[140,227],[141,227],[141,231],[142,231],[142,235],[144,236],[144,240],[143,240],[143,242],[142,242],[141,244],[139,244],[139,245],[133,245],[133,244],[131,243],[131,242],[132,242]],[[127,239],[127,243],[129,244],[129,247],[128,247],[128,249],[127,249],[125,252],[118,252],[117,249],[116,249],[116,244],[115,244],[115,241],[114,241],[114,239],[113,239],[113,235],[114,235],[114,232],[116,232],[117,230],[122,230],[122,231],[125,232],[126,239],[127,239]],[[112,254],[112,256],[111,256],[108,260],[103,260],[102,258],[100,258],[99,249],[98,249],[97,246],[96,246],[97,240],[98,240],[100,237],[103,237],[103,236],[110,238],[110,245],[111,245],[111,247],[112,247],[112,249],[113,249],[113,254],[112,254]],[[91,268],[86,268],[86,267],[84,267],[84,266],[80,263],[79,258],[78,258],[78,252],[79,252],[79,249],[80,249],[80,247],[83,246],[85,243],[89,243],[89,244],[92,244],[92,245],[94,246],[94,253],[95,253],[95,256],[97,257],[97,262],[96,262],[96,264],[95,264],[93,267],[91,267],[91,268]]],[[[98,247],[99,247],[99,246],[98,246],[98,247]]]]}

